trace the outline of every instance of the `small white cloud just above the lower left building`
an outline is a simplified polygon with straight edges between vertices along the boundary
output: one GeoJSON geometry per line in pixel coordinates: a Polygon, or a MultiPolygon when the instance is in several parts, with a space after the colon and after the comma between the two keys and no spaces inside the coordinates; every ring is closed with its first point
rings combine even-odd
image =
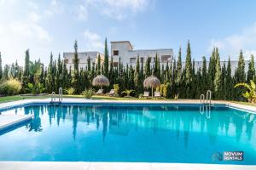
{"type": "Polygon", "coordinates": [[[104,48],[102,37],[95,32],[86,30],[83,33],[86,50],[100,50],[104,48]]]}

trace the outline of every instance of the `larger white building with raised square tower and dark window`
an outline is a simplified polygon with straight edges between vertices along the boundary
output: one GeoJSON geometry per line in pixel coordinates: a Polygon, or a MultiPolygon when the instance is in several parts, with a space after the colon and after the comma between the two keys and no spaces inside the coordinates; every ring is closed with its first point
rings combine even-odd
{"type": "Polygon", "coordinates": [[[140,62],[144,63],[148,57],[151,58],[151,62],[154,63],[155,55],[157,54],[160,59],[160,64],[166,64],[167,61],[172,61],[173,50],[172,48],[166,49],[137,49],[134,50],[130,41],[119,41],[111,43],[111,56],[113,56],[113,65],[117,66],[119,58],[123,65],[136,65],[137,56],[140,58],[140,62]]]}

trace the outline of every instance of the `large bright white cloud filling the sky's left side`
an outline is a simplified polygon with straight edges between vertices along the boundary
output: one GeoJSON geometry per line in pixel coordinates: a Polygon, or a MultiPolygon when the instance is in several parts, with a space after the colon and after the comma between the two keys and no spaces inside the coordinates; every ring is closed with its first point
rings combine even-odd
{"type": "Polygon", "coordinates": [[[18,60],[23,65],[24,55],[27,48],[31,48],[31,52],[38,54],[32,55],[32,59],[42,57],[46,52],[52,37],[49,32],[41,25],[44,17],[39,13],[38,4],[32,1],[26,3],[12,0],[1,1],[0,20],[0,51],[3,57],[3,64],[10,64],[18,60]],[[3,5],[3,6],[2,6],[3,5]],[[13,12],[9,14],[9,8],[13,12]],[[26,10],[22,10],[26,8],[26,10]],[[46,48],[47,47],[47,48],[46,48]]]}

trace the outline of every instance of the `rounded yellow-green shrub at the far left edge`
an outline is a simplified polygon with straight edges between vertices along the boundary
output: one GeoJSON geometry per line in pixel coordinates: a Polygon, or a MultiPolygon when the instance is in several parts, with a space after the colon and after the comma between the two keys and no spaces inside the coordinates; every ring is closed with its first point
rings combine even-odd
{"type": "Polygon", "coordinates": [[[15,95],[20,94],[21,82],[11,78],[0,84],[0,94],[4,95],[15,95]]]}

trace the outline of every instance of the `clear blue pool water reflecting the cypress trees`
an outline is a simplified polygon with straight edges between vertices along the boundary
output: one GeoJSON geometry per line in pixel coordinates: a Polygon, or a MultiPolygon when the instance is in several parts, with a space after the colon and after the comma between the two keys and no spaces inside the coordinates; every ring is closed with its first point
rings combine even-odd
{"type": "Polygon", "coordinates": [[[0,161],[143,161],[256,165],[256,115],[201,105],[27,105],[0,132],[0,161]],[[244,161],[212,160],[243,151],[244,161]]]}

